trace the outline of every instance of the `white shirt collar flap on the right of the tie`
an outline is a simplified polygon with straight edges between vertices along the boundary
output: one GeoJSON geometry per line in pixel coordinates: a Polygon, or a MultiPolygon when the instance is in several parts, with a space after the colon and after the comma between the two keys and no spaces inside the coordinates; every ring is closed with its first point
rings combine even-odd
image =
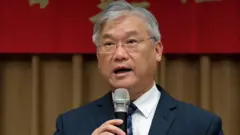
{"type": "Polygon", "coordinates": [[[160,91],[154,83],[150,90],[136,99],[133,103],[138,107],[138,110],[144,115],[144,117],[148,118],[158,103],[160,94],[160,91]]]}

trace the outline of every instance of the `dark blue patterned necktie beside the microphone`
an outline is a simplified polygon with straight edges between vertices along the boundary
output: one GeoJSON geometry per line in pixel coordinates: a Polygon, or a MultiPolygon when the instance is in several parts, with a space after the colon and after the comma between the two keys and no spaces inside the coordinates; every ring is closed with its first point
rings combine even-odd
{"type": "Polygon", "coordinates": [[[130,103],[128,107],[128,119],[127,119],[127,127],[128,127],[128,135],[133,135],[132,129],[132,114],[137,110],[137,106],[133,103],[130,103]]]}

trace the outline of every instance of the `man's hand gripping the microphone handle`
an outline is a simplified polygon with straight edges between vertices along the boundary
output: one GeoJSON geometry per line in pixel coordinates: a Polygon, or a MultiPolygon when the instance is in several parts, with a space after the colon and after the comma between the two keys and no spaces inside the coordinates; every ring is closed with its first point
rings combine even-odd
{"type": "Polygon", "coordinates": [[[123,123],[122,120],[109,120],[95,129],[92,135],[126,135],[120,128],[116,127],[123,123]]]}

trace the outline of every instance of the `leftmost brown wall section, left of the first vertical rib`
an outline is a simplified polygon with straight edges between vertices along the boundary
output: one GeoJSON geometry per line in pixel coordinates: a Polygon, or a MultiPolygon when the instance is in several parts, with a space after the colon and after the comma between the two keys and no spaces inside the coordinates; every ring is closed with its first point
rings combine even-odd
{"type": "Polygon", "coordinates": [[[31,61],[1,64],[1,135],[30,134],[31,61]]]}

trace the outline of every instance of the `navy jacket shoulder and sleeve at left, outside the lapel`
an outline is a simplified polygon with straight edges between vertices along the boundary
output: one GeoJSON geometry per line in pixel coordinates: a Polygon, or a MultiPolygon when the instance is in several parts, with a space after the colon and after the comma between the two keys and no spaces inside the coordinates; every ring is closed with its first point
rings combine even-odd
{"type": "Polygon", "coordinates": [[[101,100],[102,98],[97,99],[60,114],[57,117],[58,130],[67,134],[90,134],[96,128],[93,116],[98,111],[101,100]]]}

